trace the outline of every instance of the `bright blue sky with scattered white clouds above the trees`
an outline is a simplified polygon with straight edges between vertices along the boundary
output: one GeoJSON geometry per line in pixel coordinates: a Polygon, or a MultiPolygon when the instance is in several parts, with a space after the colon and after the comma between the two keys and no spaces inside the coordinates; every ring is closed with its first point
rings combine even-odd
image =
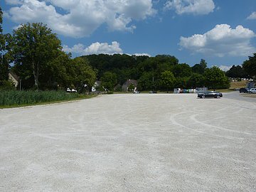
{"type": "Polygon", "coordinates": [[[73,57],[169,54],[227,70],[256,53],[255,0],[1,0],[4,33],[43,22],[73,57]]]}

